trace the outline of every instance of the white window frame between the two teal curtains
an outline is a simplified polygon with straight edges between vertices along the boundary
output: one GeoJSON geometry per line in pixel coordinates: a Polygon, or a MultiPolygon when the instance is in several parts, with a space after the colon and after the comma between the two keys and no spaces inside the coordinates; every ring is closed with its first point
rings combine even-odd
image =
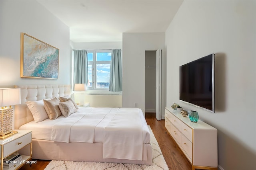
{"type": "MultiPolygon", "coordinates": [[[[92,53],[92,61],[88,61],[87,64],[92,64],[92,87],[87,87],[88,90],[108,90],[108,88],[97,88],[97,64],[111,64],[110,61],[96,61],[96,53],[112,53],[112,50],[87,50],[87,54],[92,53]]],[[[88,75],[89,79],[89,75],[88,75]]]]}

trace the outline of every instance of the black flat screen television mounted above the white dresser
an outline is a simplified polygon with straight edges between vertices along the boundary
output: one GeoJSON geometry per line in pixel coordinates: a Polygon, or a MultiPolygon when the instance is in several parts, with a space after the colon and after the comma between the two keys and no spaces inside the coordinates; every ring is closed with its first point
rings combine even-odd
{"type": "Polygon", "coordinates": [[[214,69],[214,53],[180,66],[180,100],[214,113],[214,69]]]}

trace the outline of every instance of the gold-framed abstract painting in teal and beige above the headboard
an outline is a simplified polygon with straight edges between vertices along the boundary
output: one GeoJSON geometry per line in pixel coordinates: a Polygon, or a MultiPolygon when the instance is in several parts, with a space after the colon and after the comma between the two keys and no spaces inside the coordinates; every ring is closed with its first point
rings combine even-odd
{"type": "Polygon", "coordinates": [[[20,33],[20,77],[58,79],[59,49],[20,33]]]}

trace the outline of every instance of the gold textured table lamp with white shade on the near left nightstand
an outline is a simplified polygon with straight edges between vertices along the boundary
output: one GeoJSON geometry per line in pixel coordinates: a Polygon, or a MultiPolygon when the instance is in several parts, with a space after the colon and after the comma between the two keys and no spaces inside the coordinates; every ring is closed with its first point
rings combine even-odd
{"type": "Polygon", "coordinates": [[[0,139],[4,139],[16,131],[12,131],[12,105],[20,104],[20,88],[0,88],[0,139]]]}

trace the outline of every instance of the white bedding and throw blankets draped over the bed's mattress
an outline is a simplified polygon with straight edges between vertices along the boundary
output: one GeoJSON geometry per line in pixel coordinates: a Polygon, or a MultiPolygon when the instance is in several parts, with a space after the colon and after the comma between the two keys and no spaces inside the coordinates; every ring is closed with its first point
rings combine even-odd
{"type": "Polygon", "coordinates": [[[80,107],[69,117],[31,121],[19,129],[31,129],[33,139],[103,143],[103,158],[142,160],[142,145],[150,143],[146,120],[138,108],[80,107]]]}

